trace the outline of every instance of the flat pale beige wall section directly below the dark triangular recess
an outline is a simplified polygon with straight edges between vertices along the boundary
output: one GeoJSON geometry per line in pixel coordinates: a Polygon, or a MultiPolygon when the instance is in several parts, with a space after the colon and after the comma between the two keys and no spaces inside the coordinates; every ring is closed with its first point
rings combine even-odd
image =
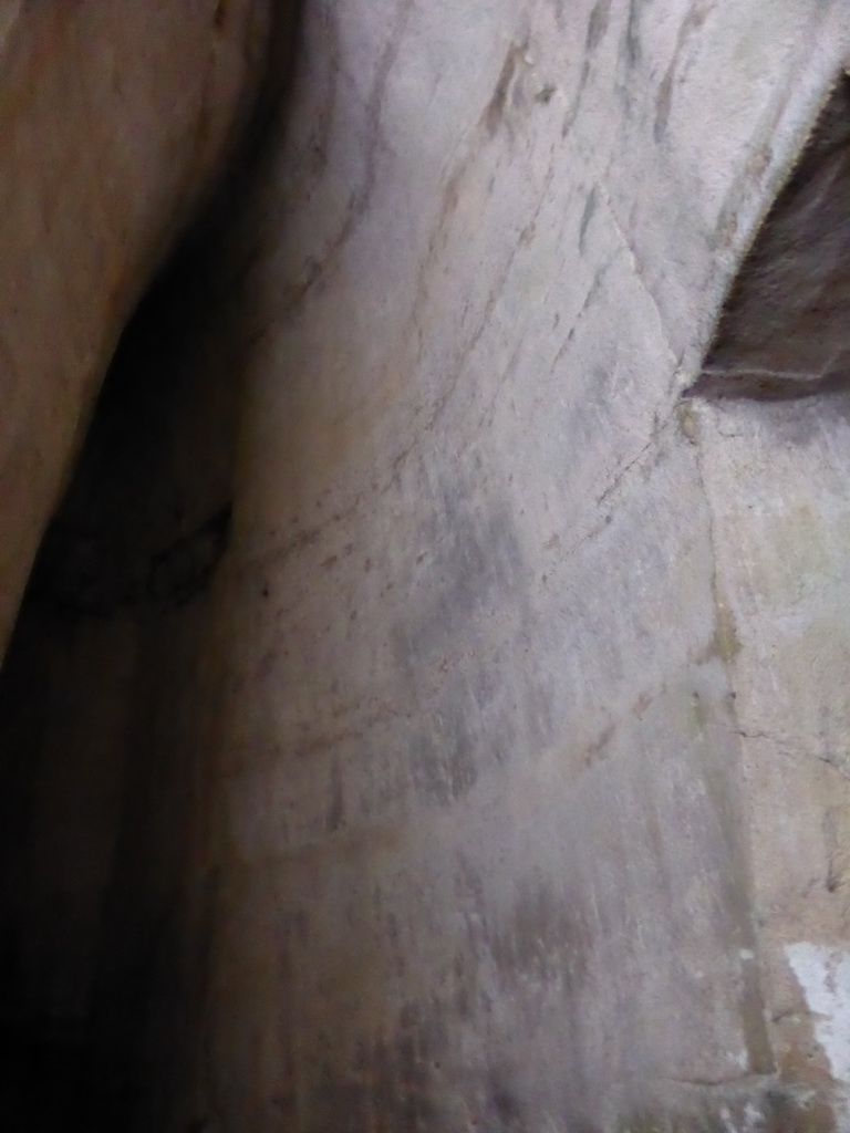
{"type": "MultiPolygon", "coordinates": [[[[789,1074],[800,1063],[825,1071],[826,1049],[809,1049],[821,1012],[789,957],[840,951],[850,931],[847,394],[704,407],[699,432],[738,644],[731,668],[772,1043],[789,1074]]],[[[847,1012],[834,1025],[850,1030],[847,1012]]]]}

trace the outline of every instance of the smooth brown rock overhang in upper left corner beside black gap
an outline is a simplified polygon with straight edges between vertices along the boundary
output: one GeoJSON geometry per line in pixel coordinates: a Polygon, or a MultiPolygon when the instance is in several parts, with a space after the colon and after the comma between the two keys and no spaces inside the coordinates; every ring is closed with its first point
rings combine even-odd
{"type": "Polygon", "coordinates": [[[0,2],[0,654],[118,337],[245,125],[267,7],[0,2]]]}

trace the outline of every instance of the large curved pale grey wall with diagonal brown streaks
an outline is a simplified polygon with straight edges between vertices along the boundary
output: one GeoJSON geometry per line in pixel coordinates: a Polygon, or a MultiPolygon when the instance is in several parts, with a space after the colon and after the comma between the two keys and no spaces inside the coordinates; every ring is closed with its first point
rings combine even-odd
{"type": "MultiPolygon", "coordinates": [[[[214,861],[224,1128],[832,1122],[821,1007],[759,926],[791,817],[826,878],[835,773],[800,767],[802,815],[741,734],[754,667],[800,692],[747,661],[740,563],[793,560],[730,528],[734,438],[679,394],[844,49],[838,6],[307,6],[186,881],[214,861]]],[[[828,526],[794,467],[776,506],[828,526]]],[[[840,945],[785,880],[783,940],[840,945]]]]}

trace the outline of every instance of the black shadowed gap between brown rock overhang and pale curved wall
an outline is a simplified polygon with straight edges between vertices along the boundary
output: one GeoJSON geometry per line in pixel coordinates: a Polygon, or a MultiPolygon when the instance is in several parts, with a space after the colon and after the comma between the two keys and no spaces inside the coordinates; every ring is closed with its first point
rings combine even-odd
{"type": "Polygon", "coordinates": [[[279,6],[253,127],[122,337],[0,671],[2,1133],[163,1128],[196,1058],[214,590],[296,24],[279,6]]]}

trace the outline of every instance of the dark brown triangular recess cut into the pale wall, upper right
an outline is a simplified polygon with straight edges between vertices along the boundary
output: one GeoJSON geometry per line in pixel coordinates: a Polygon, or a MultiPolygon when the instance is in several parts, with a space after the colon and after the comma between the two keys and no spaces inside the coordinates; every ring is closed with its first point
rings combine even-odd
{"type": "Polygon", "coordinates": [[[734,279],[688,391],[787,400],[850,387],[850,78],[842,73],[734,279]]]}

